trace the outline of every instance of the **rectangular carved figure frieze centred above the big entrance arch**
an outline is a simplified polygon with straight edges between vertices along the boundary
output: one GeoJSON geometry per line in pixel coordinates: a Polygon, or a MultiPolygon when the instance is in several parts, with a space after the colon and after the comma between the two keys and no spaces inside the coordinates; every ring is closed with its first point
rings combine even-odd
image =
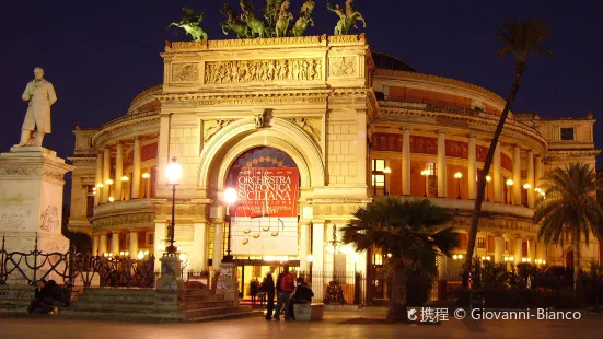
{"type": "Polygon", "coordinates": [[[205,63],[205,83],[233,84],[322,80],[320,59],[212,61],[205,63]]]}

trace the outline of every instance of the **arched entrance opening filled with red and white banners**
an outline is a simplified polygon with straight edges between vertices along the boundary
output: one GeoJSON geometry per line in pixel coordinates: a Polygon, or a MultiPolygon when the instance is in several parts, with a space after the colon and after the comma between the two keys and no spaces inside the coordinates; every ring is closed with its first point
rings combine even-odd
{"type": "Polygon", "coordinates": [[[232,163],[225,187],[237,192],[237,203],[230,211],[231,252],[241,277],[241,297],[246,297],[270,268],[300,266],[300,172],[286,152],[258,147],[232,163]]]}

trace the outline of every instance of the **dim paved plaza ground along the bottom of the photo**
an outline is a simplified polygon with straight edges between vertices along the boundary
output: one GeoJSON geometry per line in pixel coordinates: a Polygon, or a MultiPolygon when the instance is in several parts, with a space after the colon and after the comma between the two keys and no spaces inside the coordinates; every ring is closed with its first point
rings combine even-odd
{"type": "Polygon", "coordinates": [[[266,322],[262,317],[198,324],[74,320],[53,316],[0,317],[0,338],[187,339],[187,338],[600,338],[603,316],[579,320],[455,320],[441,325],[348,325],[353,318],[378,318],[383,309],[328,312],[320,323],[266,322]]]}

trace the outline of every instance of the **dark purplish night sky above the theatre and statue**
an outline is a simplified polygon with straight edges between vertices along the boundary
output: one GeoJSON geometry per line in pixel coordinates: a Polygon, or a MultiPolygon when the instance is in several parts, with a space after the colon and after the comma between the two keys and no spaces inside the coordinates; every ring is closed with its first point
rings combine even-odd
{"type": "MultiPolygon", "coordinates": [[[[239,0],[228,1],[237,9],[239,0]]],[[[255,0],[256,13],[264,5],[255,0]]],[[[303,0],[292,0],[291,12],[303,0]]],[[[315,0],[309,35],[332,34],[337,16],[315,0]]],[[[345,0],[332,0],[343,4],[345,0]]],[[[21,94],[33,69],[45,69],[55,85],[53,133],[44,145],[67,157],[73,151],[72,130],[97,127],[126,114],[132,97],[160,84],[165,40],[188,40],[166,26],[189,5],[206,13],[202,27],[210,39],[227,36],[219,23],[224,0],[159,1],[30,0],[2,3],[0,11],[0,151],[19,142],[26,103],[21,94]]],[[[495,27],[508,19],[545,21],[552,26],[545,46],[556,57],[529,60],[514,112],[538,110],[542,117],[584,117],[592,109],[603,117],[603,3],[589,1],[405,1],[357,0],[368,22],[372,50],[394,55],[418,72],[459,79],[506,97],[513,79],[513,60],[495,57],[501,46],[495,27]]],[[[360,30],[357,32],[364,32],[360,30]]],[[[232,37],[232,36],[231,36],[232,37]]],[[[603,148],[603,120],[595,124],[603,148]]]]}

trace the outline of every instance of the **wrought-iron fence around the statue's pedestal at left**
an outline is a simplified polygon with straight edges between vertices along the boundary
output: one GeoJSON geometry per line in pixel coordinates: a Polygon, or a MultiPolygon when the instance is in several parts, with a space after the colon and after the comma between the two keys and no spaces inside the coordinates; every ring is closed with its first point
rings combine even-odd
{"type": "Polygon", "coordinates": [[[45,279],[58,280],[66,285],[73,285],[78,280],[90,287],[97,280],[100,287],[137,287],[154,285],[154,257],[146,256],[138,260],[125,257],[92,256],[79,254],[73,249],[67,253],[42,253],[37,248],[25,252],[7,252],[2,236],[0,248],[0,285],[12,282],[26,282],[34,285],[45,279]]]}

